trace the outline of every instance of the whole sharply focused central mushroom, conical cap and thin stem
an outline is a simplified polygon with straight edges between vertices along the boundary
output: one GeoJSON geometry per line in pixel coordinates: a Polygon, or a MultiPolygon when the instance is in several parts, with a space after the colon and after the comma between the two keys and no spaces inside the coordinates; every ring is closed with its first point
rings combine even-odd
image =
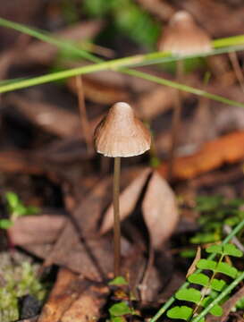
{"type": "Polygon", "coordinates": [[[120,172],[121,157],[139,156],[151,145],[151,135],[129,104],[112,106],[94,133],[95,148],[105,157],[114,157],[114,276],[120,275],[120,172]]]}

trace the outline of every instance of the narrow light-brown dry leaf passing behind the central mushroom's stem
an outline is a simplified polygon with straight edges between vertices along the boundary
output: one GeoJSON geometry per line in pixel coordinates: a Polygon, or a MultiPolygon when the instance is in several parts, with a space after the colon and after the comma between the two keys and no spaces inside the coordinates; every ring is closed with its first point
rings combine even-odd
{"type": "MultiPolygon", "coordinates": [[[[144,169],[139,176],[130,183],[130,185],[122,191],[120,196],[120,216],[121,221],[130,215],[130,212],[135,208],[139,199],[139,194],[147,181],[150,169],[144,169]]],[[[114,208],[113,204],[105,212],[105,217],[100,229],[100,233],[106,233],[114,225],[114,208]]]]}

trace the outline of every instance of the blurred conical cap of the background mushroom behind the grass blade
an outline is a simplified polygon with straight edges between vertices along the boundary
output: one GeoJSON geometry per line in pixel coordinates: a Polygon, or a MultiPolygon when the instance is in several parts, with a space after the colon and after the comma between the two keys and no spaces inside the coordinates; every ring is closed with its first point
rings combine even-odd
{"type": "Polygon", "coordinates": [[[174,55],[194,55],[210,52],[212,47],[206,31],[198,27],[189,13],[180,11],[172,16],[158,49],[174,55]]]}

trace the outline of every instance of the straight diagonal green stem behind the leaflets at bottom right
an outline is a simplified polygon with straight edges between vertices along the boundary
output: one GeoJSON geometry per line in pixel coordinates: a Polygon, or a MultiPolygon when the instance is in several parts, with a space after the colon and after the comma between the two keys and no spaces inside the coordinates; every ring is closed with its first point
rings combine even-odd
{"type": "MultiPolygon", "coordinates": [[[[222,245],[225,245],[226,243],[228,243],[228,242],[230,242],[231,241],[231,239],[233,238],[233,236],[235,236],[237,233],[239,233],[240,232],[240,230],[241,229],[243,229],[243,227],[244,227],[244,219],[240,222],[240,224],[239,225],[237,225],[233,230],[232,230],[232,232],[223,240],[223,242],[222,242],[222,245]]],[[[208,256],[208,258],[207,259],[214,259],[215,258],[215,256],[216,256],[216,254],[211,254],[210,256],[208,256]]],[[[201,269],[197,269],[197,271],[195,272],[195,273],[199,273],[201,271],[201,269]]],[[[181,285],[181,287],[180,287],[180,289],[179,290],[181,290],[181,289],[184,289],[184,288],[186,288],[186,287],[188,287],[189,286],[189,282],[185,282],[184,284],[182,284],[181,285]]],[[[158,310],[158,312],[156,313],[156,315],[153,317],[153,318],[151,318],[150,319],[150,322],[155,322],[158,318],[160,318],[163,314],[164,314],[164,312],[167,310],[167,309],[169,309],[169,307],[172,305],[172,303],[175,301],[175,298],[174,298],[174,296],[172,296],[168,301],[166,301],[165,303],[164,303],[164,306],[161,308],[161,309],[159,309],[158,310]]],[[[197,321],[195,321],[194,320],[194,322],[197,322],[197,321]]]]}

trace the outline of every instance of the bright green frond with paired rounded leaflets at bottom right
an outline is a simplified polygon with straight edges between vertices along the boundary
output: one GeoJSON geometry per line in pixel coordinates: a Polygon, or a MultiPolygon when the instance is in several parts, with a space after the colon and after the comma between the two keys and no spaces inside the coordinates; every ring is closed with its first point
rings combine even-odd
{"type": "MultiPolygon", "coordinates": [[[[224,261],[226,256],[240,258],[243,253],[233,244],[212,245],[206,249],[207,253],[216,254],[218,260],[200,258],[197,263],[198,271],[188,276],[189,287],[182,288],[175,293],[175,298],[179,301],[191,303],[189,306],[175,306],[167,311],[168,318],[194,321],[201,310],[210,307],[211,303],[221,294],[222,301],[213,305],[209,313],[216,317],[221,317],[223,309],[220,304],[228,298],[228,281],[239,277],[240,272],[236,267],[224,261]],[[206,273],[208,272],[208,273],[206,273]],[[221,278],[224,276],[223,278],[221,278]],[[194,285],[201,287],[201,290],[194,288],[194,285]],[[192,287],[193,286],[193,287],[192,287]]],[[[185,304],[185,303],[184,303],[185,304]]],[[[199,317],[200,318],[200,317],[199,317]]],[[[200,322],[205,322],[205,318],[200,318],[200,322]]]]}

